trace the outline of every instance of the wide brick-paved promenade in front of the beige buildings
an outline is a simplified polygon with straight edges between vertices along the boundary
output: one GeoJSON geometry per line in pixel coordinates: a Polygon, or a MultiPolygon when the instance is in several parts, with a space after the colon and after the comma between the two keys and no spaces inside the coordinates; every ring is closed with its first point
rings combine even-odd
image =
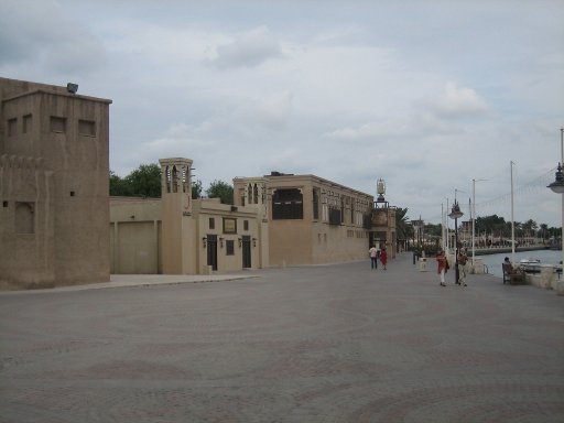
{"type": "Polygon", "coordinates": [[[564,297],[432,268],[0,294],[0,422],[564,422],[564,297]]]}

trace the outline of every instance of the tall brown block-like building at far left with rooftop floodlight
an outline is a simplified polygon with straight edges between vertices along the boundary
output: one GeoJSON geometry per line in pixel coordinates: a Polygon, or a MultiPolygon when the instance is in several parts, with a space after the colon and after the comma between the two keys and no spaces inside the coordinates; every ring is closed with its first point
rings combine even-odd
{"type": "Polygon", "coordinates": [[[110,100],[0,78],[0,285],[108,281],[110,100]]]}

